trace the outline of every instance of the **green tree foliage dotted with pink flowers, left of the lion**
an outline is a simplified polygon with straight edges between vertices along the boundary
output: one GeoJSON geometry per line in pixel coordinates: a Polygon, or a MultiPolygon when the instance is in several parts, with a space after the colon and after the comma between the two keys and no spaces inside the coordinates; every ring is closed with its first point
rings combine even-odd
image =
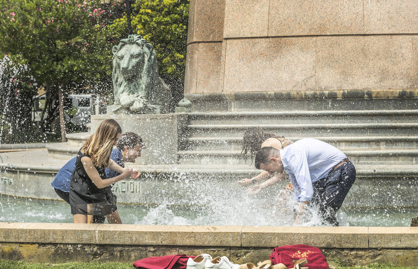
{"type": "Polygon", "coordinates": [[[0,52],[64,93],[99,84],[109,79],[110,44],[100,38],[113,13],[99,0],[0,0],[0,52]]]}

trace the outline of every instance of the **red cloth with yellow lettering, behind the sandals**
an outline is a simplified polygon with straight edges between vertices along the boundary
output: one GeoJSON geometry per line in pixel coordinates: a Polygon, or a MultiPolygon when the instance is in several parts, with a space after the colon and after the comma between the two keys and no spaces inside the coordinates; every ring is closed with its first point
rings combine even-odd
{"type": "Polygon", "coordinates": [[[291,245],[291,246],[279,246],[273,249],[273,253],[270,255],[272,264],[284,264],[288,268],[293,267],[293,260],[299,260],[306,258],[308,263],[303,267],[309,267],[309,269],[329,269],[328,263],[321,250],[308,245],[291,245]]]}

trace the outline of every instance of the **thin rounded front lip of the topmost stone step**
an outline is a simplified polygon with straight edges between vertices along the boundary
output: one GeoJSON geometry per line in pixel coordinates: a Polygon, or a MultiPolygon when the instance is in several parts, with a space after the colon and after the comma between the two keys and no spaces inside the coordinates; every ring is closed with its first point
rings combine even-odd
{"type": "Polygon", "coordinates": [[[200,117],[252,117],[252,116],[349,116],[349,115],[416,115],[418,110],[320,110],[320,111],[273,111],[273,112],[190,112],[187,113],[191,119],[199,119],[200,117]]]}

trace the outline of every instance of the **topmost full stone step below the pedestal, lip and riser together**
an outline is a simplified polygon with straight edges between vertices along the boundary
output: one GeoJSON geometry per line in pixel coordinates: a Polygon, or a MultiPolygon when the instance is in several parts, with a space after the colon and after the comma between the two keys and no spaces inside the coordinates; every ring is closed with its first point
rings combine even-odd
{"type": "Polygon", "coordinates": [[[418,110],[188,113],[191,124],[411,123],[418,110]]]}

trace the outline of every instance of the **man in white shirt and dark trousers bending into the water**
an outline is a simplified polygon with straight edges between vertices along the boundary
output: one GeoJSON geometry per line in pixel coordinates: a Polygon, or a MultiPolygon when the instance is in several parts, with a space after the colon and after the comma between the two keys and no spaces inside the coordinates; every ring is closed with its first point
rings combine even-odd
{"type": "Polygon", "coordinates": [[[300,202],[295,224],[313,204],[324,221],[339,226],[336,212],[356,179],[356,169],[342,151],[324,141],[303,138],[280,150],[261,148],[255,154],[255,168],[289,174],[293,197],[300,202]]]}

